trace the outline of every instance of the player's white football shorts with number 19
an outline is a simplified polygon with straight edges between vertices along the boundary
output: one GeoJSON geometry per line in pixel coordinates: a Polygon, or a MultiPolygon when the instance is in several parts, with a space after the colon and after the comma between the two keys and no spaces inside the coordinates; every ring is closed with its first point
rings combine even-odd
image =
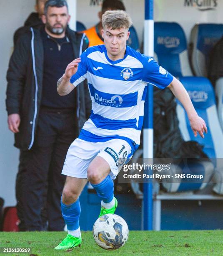
{"type": "Polygon", "coordinates": [[[87,178],[87,169],[95,156],[101,156],[110,166],[110,176],[115,179],[123,164],[132,157],[129,143],[123,139],[113,139],[105,142],[90,142],[80,138],[75,139],[68,149],[62,174],[87,178]]]}

